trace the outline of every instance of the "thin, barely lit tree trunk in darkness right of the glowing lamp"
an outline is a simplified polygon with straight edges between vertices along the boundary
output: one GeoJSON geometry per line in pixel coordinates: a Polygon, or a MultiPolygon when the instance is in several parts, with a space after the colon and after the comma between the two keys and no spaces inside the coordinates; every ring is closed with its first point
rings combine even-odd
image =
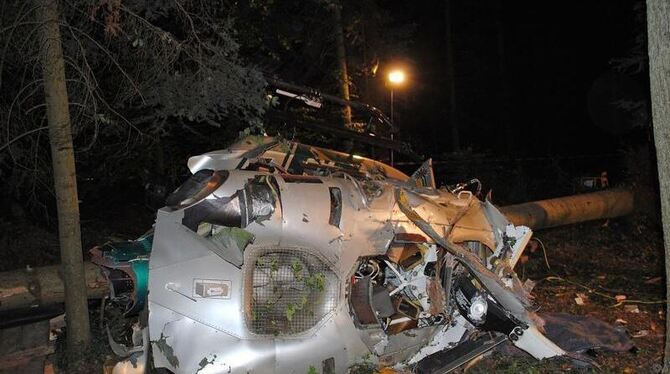
{"type": "Polygon", "coordinates": [[[453,152],[459,151],[461,148],[461,139],[458,129],[458,118],[456,114],[456,74],[454,66],[454,30],[453,30],[453,12],[454,9],[451,4],[451,0],[445,0],[444,2],[444,31],[445,31],[445,43],[447,45],[447,94],[449,96],[449,115],[447,116],[449,120],[449,125],[451,126],[451,148],[453,152]]]}

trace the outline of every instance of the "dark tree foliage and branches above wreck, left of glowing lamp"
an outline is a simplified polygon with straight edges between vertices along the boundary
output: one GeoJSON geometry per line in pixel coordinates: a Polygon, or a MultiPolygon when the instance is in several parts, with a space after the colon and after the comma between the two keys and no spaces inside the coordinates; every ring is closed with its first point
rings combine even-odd
{"type": "MultiPolygon", "coordinates": [[[[265,111],[286,109],[265,95],[266,75],[337,92],[332,33],[334,1],[66,0],[62,44],[80,197],[91,201],[104,186],[174,188],[186,159],[266,130],[265,111]],[[268,37],[271,35],[272,37],[268,37]],[[132,160],[132,162],[128,162],[132,160]]],[[[411,25],[394,24],[376,1],[344,1],[354,97],[373,98],[370,66],[402,50],[411,25]]],[[[16,201],[51,201],[51,163],[44,129],[41,71],[32,7],[3,2],[0,14],[0,180],[16,201]]],[[[375,100],[371,100],[373,104],[375,100]]],[[[298,110],[302,118],[311,114],[298,110]]],[[[320,110],[339,118],[339,108],[320,110]]],[[[330,117],[328,117],[330,116],[330,117]]],[[[335,121],[338,121],[335,119],[335,121]]]]}

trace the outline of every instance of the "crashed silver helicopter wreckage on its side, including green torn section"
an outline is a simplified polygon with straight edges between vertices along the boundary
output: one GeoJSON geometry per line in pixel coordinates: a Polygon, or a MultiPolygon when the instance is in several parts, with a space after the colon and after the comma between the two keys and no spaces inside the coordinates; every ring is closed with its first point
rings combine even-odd
{"type": "Polygon", "coordinates": [[[343,373],[452,352],[447,372],[505,341],[571,355],[513,271],[532,231],[436,188],[430,162],[408,177],[251,137],[188,167],[152,232],[92,250],[112,298],[148,311],[137,347],[112,342],[118,372],[343,373]]]}

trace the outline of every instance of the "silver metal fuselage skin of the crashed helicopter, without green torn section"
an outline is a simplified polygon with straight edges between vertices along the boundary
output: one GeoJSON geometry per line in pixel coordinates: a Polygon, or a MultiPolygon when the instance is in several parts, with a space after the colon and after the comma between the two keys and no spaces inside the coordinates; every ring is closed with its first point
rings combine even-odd
{"type": "Polygon", "coordinates": [[[300,146],[260,137],[189,160],[193,174],[211,170],[225,174],[225,180],[199,201],[158,212],[148,294],[154,367],[175,373],[346,373],[361,363],[395,368],[416,364],[470,339],[478,329],[449,300],[439,322],[424,322],[438,317],[430,313],[437,299],[434,293],[427,296],[431,291],[425,275],[438,258],[458,274],[470,274],[482,295],[489,295],[489,303],[522,326],[510,335],[518,347],[539,359],[565,353],[542,335],[541,321],[512,271],[532,235],[529,229],[511,225],[493,205],[471,193],[422,185],[388,165],[315,147],[309,147],[312,157],[305,158],[296,150],[300,146]],[[338,161],[333,155],[343,158],[338,161]],[[297,178],[292,173],[301,157],[301,174],[307,176],[297,178]],[[357,174],[340,166],[345,158],[358,165],[357,174]],[[251,167],[257,163],[261,166],[251,167]],[[262,200],[254,192],[259,190],[273,198],[262,200]],[[220,218],[186,227],[199,205],[220,207],[235,197],[244,201],[239,227],[222,225],[220,218]],[[263,214],[254,216],[256,210],[263,214]],[[228,236],[217,241],[217,232],[228,236]],[[416,263],[400,266],[390,259],[400,237],[424,238],[416,243],[421,251],[416,263]],[[486,251],[485,257],[473,254],[469,248],[475,247],[468,243],[486,251]],[[272,256],[267,258],[279,262],[260,262],[274,252],[295,257],[290,257],[293,262],[272,256]],[[238,254],[243,256],[241,265],[235,260],[238,254]],[[328,270],[310,283],[318,277],[303,276],[307,262],[296,258],[318,259],[312,261],[328,270]],[[370,289],[381,289],[384,300],[384,292],[389,300],[409,300],[421,311],[418,317],[386,318],[375,309],[379,323],[360,323],[352,287],[364,278],[361,264],[368,260],[372,265],[366,271],[383,272],[376,276],[384,279],[386,291],[381,281],[370,289]],[[259,305],[268,303],[268,296],[261,296],[268,277],[278,274],[293,286],[282,288],[279,278],[271,279],[274,293],[266,291],[269,297],[279,294],[272,306],[283,308],[279,317],[285,315],[285,326],[268,333],[274,319],[271,324],[259,321],[259,311],[265,313],[259,305]],[[292,293],[297,295],[292,300],[311,295],[317,301],[287,304],[282,298],[292,293]],[[415,325],[390,332],[393,325],[406,323],[415,325]],[[305,324],[312,325],[305,329],[305,324]],[[300,331],[291,326],[300,326],[300,331]]]}

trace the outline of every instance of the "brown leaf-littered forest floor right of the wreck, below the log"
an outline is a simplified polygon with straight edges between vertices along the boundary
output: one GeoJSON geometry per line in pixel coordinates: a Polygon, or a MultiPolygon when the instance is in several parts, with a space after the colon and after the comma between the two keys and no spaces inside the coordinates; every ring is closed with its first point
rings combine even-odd
{"type": "MultiPolygon", "coordinates": [[[[635,218],[623,218],[542,230],[535,237],[545,245],[546,261],[539,247],[516,270],[537,282],[532,294],[539,311],[589,315],[624,328],[633,351],[587,353],[602,372],[660,372],[665,336],[660,234],[635,218]]],[[[567,371],[591,370],[566,359],[540,362],[496,353],[471,368],[474,373],[567,371]]]]}

